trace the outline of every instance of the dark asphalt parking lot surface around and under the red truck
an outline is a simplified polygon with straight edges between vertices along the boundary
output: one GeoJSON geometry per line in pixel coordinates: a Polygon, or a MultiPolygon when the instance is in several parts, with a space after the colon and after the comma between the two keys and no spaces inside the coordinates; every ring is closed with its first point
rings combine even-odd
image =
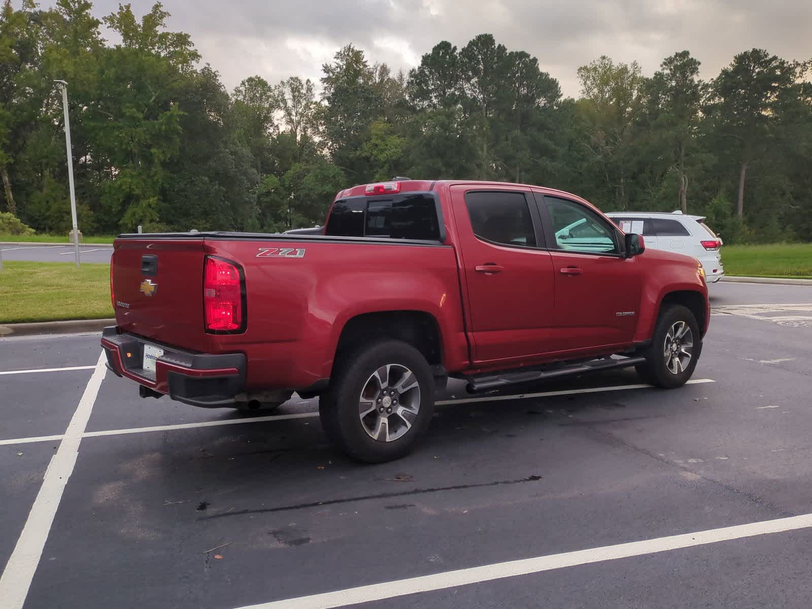
{"type": "Polygon", "coordinates": [[[141,400],[96,335],[0,339],[0,607],[806,609],[812,287],[711,299],[686,387],[446,395],[374,466],[315,400],[141,400]]]}

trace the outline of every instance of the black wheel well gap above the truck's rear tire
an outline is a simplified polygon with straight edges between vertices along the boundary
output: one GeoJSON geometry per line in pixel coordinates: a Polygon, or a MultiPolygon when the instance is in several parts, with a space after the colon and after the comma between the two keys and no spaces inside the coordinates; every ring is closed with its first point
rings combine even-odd
{"type": "Polygon", "coordinates": [[[440,330],[437,320],[423,311],[385,311],[352,317],[341,330],[335,349],[335,363],[342,353],[352,351],[374,339],[402,340],[425,357],[429,365],[443,363],[440,330]]]}

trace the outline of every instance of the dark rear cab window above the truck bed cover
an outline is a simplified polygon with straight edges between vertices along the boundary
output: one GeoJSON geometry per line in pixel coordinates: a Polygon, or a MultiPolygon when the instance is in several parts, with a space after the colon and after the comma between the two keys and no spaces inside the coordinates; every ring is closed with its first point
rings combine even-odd
{"type": "Polygon", "coordinates": [[[327,235],[440,240],[434,197],[415,192],[393,199],[357,197],[336,201],[327,222],[327,235]]]}

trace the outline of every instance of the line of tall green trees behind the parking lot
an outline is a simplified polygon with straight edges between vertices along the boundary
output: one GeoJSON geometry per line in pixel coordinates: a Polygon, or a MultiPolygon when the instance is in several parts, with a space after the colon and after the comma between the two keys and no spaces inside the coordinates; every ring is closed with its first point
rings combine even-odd
{"type": "Polygon", "coordinates": [[[408,74],[347,45],[318,85],[250,76],[229,93],[160,3],[92,9],[2,5],[0,210],[37,231],[70,229],[54,83],[67,80],[85,233],[312,226],[340,189],[408,175],[681,209],[727,242],[812,240],[812,60],[746,50],[703,81],[687,50],[650,77],[603,56],[578,68],[573,99],[537,58],[481,34],[439,42],[408,74]]]}

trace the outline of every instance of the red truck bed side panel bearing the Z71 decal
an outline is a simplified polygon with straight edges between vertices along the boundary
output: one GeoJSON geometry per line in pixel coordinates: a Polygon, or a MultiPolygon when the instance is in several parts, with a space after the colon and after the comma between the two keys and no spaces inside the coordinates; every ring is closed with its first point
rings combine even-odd
{"type": "Polygon", "coordinates": [[[367,240],[207,239],[205,253],[244,267],[248,328],[214,336],[218,352],[250,352],[249,388],[302,388],[329,378],[343,326],[381,311],[430,313],[449,371],[469,364],[453,248],[367,240]],[[301,257],[257,257],[263,248],[301,257]]]}

